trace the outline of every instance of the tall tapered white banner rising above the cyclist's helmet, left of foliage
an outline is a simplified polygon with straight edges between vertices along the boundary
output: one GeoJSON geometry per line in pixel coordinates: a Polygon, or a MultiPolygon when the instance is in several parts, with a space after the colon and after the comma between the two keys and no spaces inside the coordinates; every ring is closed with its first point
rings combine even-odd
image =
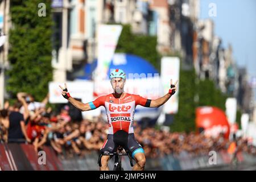
{"type": "Polygon", "coordinates": [[[106,78],[121,31],[121,25],[100,24],[98,27],[98,64],[95,75],[97,80],[106,78]]]}

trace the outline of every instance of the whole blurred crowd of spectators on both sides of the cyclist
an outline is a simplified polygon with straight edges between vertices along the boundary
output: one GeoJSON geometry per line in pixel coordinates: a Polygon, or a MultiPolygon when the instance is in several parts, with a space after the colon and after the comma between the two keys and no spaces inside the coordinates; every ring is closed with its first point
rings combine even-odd
{"type": "MultiPolygon", "coordinates": [[[[34,97],[27,93],[18,93],[17,98],[14,105],[5,102],[5,109],[0,111],[1,142],[30,143],[35,151],[51,146],[60,156],[73,157],[99,151],[107,138],[108,125],[102,117],[76,122],[72,121],[68,105],[63,106],[59,113],[53,113],[51,107],[46,107],[48,95],[42,102],[34,101],[34,97]]],[[[170,133],[153,127],[142,128],[136,122],[134,133],[147,158],[227,152],[234,142],[236,152],[256,155],[255,146],[242,137],[228,140],[223,135],[210,138],[203,134],[170,133]]]]}

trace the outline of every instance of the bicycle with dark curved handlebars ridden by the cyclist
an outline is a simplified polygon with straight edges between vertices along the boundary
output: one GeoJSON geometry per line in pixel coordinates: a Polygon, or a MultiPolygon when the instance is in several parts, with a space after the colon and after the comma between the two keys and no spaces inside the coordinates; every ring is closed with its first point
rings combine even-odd
{"type": "Polygon", "coordinates": [[[115,156],[113,171],[123,171],[122,155],[127,155],[129,157],[129,160],[130,160],[130,165],[131,165],[131,167],[133,167],[133,159],[132,159],[131,155],[129,154],[129,152],[126,152],[126,154],[122,154],[122,150],[123,150],[123,147],[118,146],[118,151],[119,152],[113,152],[113,153],[109,153],[109,154],[100,154],[100,156],[98,158],[98,165],[101,167],[101,157],[102,157],[102,155],[110,155],[110,159],[113,156],[115,156]]]}

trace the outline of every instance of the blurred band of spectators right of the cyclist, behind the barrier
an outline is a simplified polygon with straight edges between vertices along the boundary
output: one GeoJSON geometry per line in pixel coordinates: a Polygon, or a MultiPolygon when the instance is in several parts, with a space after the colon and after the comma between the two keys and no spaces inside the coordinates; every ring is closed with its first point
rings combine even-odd
{"type": "Polygon", "coordinates": [[[248,143],[248,140],[242,137],[234,140],[225,139],[224,135],[217,138],[205,137],[204,134],[195,133],[170,133],[154,128],[141,130],[138,126],[135,129],[136,138],[142,143],[146,156],[157,158],[173,154],[174,156],[204,156],[209,155],[210,151],[216,152],[247,152],[256,155],[256,147],[248,143]],[[233,150],[233,144],[235,148],[233,150]],[[233,151],[232,151],[233,150],[233,151]]]}

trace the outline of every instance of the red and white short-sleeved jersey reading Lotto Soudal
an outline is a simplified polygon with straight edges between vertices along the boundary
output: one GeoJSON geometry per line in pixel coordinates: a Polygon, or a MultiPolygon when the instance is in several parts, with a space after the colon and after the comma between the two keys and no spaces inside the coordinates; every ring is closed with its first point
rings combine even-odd
{"type": "Polygon", "coordinates": [[[108,116],[109,134],[118,130],[134,133],[133,122],[134,112],[137,105],[150,106],[151,100],[139,95],[125,93],[123,98],[115,98],[113,94],[98,97],[95,101],[89,102],[92,109],[104,106],[108,116]]]}

